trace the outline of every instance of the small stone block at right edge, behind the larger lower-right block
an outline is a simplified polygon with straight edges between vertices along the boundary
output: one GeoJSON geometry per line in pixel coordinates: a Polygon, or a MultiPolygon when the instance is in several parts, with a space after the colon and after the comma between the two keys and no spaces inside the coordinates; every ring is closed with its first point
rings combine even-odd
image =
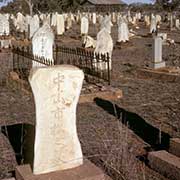
{"type": "Polygon", "coordinates": [[[169,152],[180,158],[180,138],[172,138],[170,140],[169,152]]]}

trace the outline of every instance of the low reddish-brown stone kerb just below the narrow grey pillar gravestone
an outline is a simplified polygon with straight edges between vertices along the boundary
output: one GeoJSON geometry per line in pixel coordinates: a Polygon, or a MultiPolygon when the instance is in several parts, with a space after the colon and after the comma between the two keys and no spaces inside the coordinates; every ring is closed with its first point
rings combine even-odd
{"type": "Polygon", "coordinates": [[[137,77],[140,79],[156,79],[164,82],[180,82],[180,74],[165,72],[164,69],[138,69],[137,77]]]}

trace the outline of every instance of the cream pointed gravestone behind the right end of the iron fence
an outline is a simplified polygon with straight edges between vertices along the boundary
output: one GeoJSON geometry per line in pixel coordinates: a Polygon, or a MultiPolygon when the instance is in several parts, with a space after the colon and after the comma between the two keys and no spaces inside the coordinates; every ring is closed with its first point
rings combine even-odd
{"type": "MultiPolygon", "coordinates": [[[[111,56],[113,51],[113,40],[111,38],[111,35],[109,31],[106,28],[103,28],[98,34],[97,34],[97,43],[95,48],[95,53],[99,54],[107,54],[109,53],[109,69],[111,70],[111,56]]],[[[95,63],[97,61],[95,60],[95,63]]],[[[99,69],[105,70],[107,69],[107,64],[104,64],[103,62],[100,62],[99,64],[95,64],[95,66],[98,66],[99,69]]]]}

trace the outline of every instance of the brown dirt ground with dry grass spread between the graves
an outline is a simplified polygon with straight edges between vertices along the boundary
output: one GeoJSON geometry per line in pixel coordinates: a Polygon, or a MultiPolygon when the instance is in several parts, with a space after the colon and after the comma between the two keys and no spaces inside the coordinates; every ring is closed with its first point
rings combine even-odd
{"type": "MultiPolygon", "coordinates": [[[[149,29],[143,24],[140,27],[139,30],[133,29],[138,36],[121,47],[116,45],[117,27],[112,29],[114,51],[111,86],[122,89],[123,98],[115,102],[96,99],[94,103],[79,105],[77,111],[84,156],[105,169],[115,180],[124,177],[129,180],[165,180],[137,159],[137,156],[146,155],[145,149],[152,145],[147,137],[143,137],[144,129],[139,122],[152,126],[153,130],[161,129],[169,136],[180,137],[180,84],[137,78],[136,70],[149,66],[152,61],[153,41],[151,37],[145,37],[149,29]],[[128,116],[133,123],[127,117],[122,124],[122,112],[133,116],[128,116]],[[136,129],[140,129],[141,133],[133,129],[132,124],[138,126],[136,129]]],[[[166,30],[163,27],[160,31],[166,30]]],[[[96,32],[97,27],[91,27],[92,37],[96,36],[96,32]]],[[[166,32],[180,42],[180,31],[166,32]]],[[[73,26],[73,31],[66,32],[58,43],[81,46],[79,27],[73,26]]],[[[163,46],[163,59],[168,66],[180,66],[180,45],[163,46]]],[[[0,102],[1,126],[34,124],[32,94],[26,95],[12,86],[2,86],[0,102]]],[[[152,139],[157,140],[157,137],[152,139]]],[[[156,147],[156,144],[153,145],[156,147]]]]}

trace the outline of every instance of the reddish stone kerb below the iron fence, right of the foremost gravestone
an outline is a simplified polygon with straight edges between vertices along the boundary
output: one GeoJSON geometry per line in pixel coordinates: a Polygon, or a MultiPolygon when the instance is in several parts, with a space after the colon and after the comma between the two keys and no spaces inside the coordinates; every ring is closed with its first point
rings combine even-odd
{"type": "Polygon", "coordinates": [[[81,94],[79,103],[90,103],[94,102],[95,98],[101,98],[106,100],[117,100],[122,98],[123,93],[122,90],[112,88],[109,91],[103,91],[103,92],[96,92],[96,93],[90,93],[90,94],[81,94]]]}

